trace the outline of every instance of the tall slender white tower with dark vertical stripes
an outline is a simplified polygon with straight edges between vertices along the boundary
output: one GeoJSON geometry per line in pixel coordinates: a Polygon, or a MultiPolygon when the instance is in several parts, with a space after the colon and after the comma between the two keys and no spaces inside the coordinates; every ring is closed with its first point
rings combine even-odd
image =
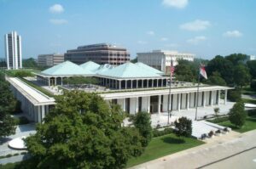
{"type": "Polygon", "coordinates": [[[7,69],[22,68],[21,37],[16,31],[5,34],[5,57],[7,69]]]}

